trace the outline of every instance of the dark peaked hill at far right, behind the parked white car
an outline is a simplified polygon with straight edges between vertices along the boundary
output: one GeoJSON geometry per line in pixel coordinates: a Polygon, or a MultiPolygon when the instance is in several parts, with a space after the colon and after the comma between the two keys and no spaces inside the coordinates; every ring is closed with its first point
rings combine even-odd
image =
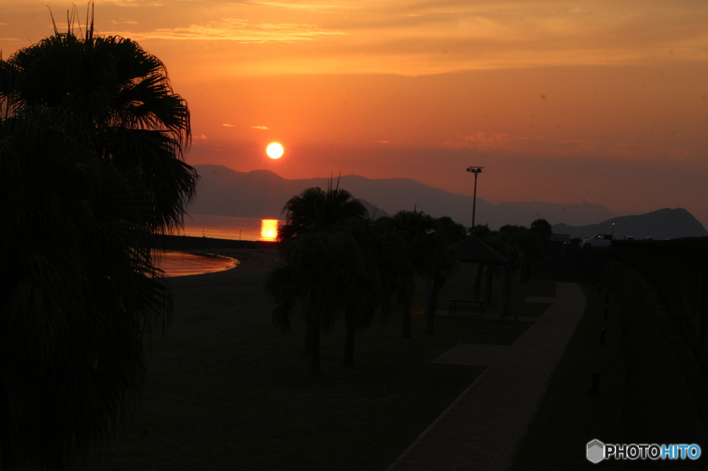
{"type": "Polygon", "coordinates": [[[571,237],[579,238],[589,238],[599,233],[612,233],[613,230],[618,239],[624,236],[632,236],[635,240],[644,237],[659,240],[708,236],[706,228],[683,208],[665,208],[636,216],[618,216],[589,226],[575,227],[562,223],[553,226],[554,233],[570,234],[571,237]],[[615,223],[614,229],[612,223],[615,223]]]}

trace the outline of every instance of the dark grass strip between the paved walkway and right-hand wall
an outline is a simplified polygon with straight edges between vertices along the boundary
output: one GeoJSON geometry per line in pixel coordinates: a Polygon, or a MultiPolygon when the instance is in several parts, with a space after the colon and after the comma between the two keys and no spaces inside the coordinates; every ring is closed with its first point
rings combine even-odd
{"type": "Polygon", "coordinates": [[[581,285],[588,300],[566,352],[547,385],[509,470],[624,469],[622,461],[593,465],[586,444],[624,443],[624,363],[619,308],[610,296],[609,318],[603,320],[605,294],[581,285]],[[600,327],[607,332],[600,345],[600,327]],[[599,394],[590,395],[593,370],[600,370],[599,394]]]}

